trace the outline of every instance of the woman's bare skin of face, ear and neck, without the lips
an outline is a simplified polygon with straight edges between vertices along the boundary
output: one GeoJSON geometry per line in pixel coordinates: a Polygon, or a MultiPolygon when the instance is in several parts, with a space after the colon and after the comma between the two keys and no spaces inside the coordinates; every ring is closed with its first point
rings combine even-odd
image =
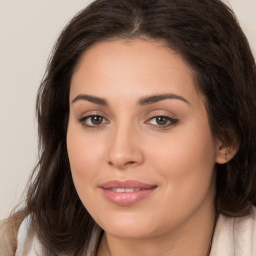
{"type": "Polygon", "coordinates": [[[159,41],[101,42],[83,54],[71,80],[67,151],[77,193],[105,231],[97,255],[205,256],[215,218],[214,166],[232,152],[213,138],[204,101],[192,69],[159,41]],[[163,93],[183,99],[138,103],[163,93]],[[92,114],[102,116],[99,125],[86,117],[92,114]],[[162,125],[155,116],[175,121],[162,125]],[[120,206],[99,188],[110,179],[157,188],[120,206]]]}

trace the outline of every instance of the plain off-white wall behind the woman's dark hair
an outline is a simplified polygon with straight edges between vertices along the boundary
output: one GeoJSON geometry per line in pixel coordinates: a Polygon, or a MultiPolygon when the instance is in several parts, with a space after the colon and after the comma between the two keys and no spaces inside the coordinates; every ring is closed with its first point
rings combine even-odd
{"type": "MultiPolygon", "coordinates": [[[[0,218],[17,203],[36,162],[35,97],[54,40],[90,1],[0,0],[0,218]]],[[[256,0],[227,2],[255,52],[256,0]]]]}

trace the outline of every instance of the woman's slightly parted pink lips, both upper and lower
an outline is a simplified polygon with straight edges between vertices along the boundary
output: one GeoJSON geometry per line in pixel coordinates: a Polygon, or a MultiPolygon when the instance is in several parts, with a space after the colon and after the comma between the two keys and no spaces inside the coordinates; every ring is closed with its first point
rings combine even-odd
{"type": "Polygon", "coordinates": [[[157,186],[137,180],[109,180],[100,184],[99,187],[110,202],[116,205],[128,206],[149,196],[157,186]]]}

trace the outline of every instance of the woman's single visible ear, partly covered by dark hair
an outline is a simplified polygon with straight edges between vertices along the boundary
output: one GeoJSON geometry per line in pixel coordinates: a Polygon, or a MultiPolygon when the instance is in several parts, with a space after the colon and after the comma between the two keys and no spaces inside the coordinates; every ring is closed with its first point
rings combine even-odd
{"type": "Polygon", "coordinates": [[[238,150],[238,144],[226,146],[223,142],[217,142],[216,163],[223,164],[231,160],[238,150]]]}

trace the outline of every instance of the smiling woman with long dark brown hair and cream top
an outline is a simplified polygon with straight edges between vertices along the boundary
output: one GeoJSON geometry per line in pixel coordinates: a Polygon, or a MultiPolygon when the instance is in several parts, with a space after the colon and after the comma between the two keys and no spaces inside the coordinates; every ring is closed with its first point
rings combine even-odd
{"type": "Polygon", "coordinates": [[[255,80],[219,0],[91,3],[39,88],[10,255],[254,255],[255,80]]]}

